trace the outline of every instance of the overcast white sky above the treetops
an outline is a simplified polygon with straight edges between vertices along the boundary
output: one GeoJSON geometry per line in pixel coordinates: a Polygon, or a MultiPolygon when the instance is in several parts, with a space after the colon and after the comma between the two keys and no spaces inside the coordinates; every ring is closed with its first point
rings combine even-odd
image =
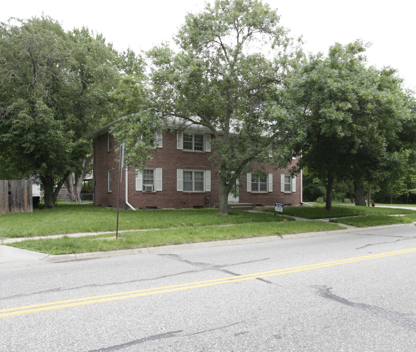
{"type": "MultiPolygon", "coordinates": [[[[210,2],[213,2],[211,0],[210,2]]],[[[355,39],[373,43],[367,50],[370,65],[391,66],[416,88],[415,13],[412,0],[264,0],[277,8],[281,24],[291,36],[302,35],[306,52],[328,53],[335,42],[355,39]]],[[[66,30],[83,25],[103,33],[117,50],[138,52],[171,41],[187,12],[204,8],[205,0],[15,0],[3,1],[0,21],[27,19],[42,12],[66,30]]]]}

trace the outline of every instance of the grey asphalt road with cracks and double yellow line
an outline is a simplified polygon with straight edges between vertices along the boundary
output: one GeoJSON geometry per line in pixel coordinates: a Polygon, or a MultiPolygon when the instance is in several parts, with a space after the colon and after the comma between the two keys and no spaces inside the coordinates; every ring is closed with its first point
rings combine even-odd
{"type": "Polygon", "coordinates": [[[0,267],[1,352],[415,352],[416,227],[0,267]]]}

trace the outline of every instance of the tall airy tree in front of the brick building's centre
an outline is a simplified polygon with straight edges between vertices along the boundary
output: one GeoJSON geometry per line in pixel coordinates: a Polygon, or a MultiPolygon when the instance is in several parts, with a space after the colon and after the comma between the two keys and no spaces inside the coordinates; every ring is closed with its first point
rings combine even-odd
{"type": "Polygon", "coordinates": [[[175,36],[177,51],[163,44],[148,52],[146,116],[174,118],[177,128],[204,126],[214,135],[219,214],[228,214],[229,192],[238,192],[242,173],[271,150],[276,161],[283,154],[276,137],[284,129],[276,120],[288,114],[280,89],[300,54],[279,20],[259,0],[216,0],[186,16],[175,36]]]}

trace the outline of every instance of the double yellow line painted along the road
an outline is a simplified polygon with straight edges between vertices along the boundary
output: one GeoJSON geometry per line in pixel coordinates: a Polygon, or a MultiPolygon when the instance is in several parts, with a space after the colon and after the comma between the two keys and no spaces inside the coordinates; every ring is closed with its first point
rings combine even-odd
{"type": "Polygon", "coordinates": [[[398,250],[398,251],[393,251],[393,252],[372,254],[372,255],[349,258],[349,259],[342,259],[342,260],[337,260],[337,261],[332,261],[332,262],[294,266],[291,268],[270,270],[270,271],[264,271],[264,272],[254,273],[254,274],[231,276],[231,277],[221,278],[221,279],[197,281],[197,282],[192,282],[192,283],[187,283],[187,284],[146,288],[146,289],[135,290],[135,291],[126,291],[126,292],[112,293],[112,294],[100,295],[100,296],[76,298],[76,299],[71,299],[71,300],[42,303],[42,304],[17,307],[17,308],[6,308],[6,309],[0,309],[0,318],[5,318],[8,316],[13,316],[13,315],[37,313],[37,312],[42,312],[46,310],[56,310],[56,309],[62,309],[62,308],[85,306],[85,305],[90,305],[94,303],[114,302],[114,301],[130,299],[130,298],[152,296],[152,295],[162,294],[162,293],[185,291],[185,290],[194,289],[194,288],[231,284],[235,282],[254,280],[254,279],[260,279],[260,278],[266,278],[266,277],[278,276],[278,275],[285,275],[285,274],[319,269],[319,268],[324,268],[324,267],[329,267],[329,266],[363,262],[363,261],[368,261],[372,259],[391,257],[391,256],[399,255],[399,254],[406,254],[406,253],[412,253],[412,252],[416,252],[416,248],[409,248],[409,249],[403,249],[403,250],[398,250]]]}

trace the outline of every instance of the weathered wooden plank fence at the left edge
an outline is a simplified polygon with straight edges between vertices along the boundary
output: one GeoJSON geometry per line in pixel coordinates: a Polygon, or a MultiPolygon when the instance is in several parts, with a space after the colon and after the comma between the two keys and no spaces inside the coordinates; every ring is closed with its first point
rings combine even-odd
{"type": "Polygon", "coordinates": [[[0,214],[32,212],[32,181],[0,180],[0,214]]]}

